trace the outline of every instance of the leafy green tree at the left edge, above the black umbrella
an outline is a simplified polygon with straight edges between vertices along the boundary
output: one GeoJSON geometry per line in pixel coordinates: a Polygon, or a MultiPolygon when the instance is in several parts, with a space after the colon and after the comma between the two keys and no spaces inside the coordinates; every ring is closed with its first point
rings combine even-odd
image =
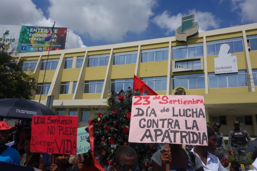
{"type": "Polygon", "coordinates": [[[18,61],[15,55],[10,52],[10,44],[0,43],[0,99],[30,99],[36,90],[33,71],[22,71],[25,59],[18,61]]]}

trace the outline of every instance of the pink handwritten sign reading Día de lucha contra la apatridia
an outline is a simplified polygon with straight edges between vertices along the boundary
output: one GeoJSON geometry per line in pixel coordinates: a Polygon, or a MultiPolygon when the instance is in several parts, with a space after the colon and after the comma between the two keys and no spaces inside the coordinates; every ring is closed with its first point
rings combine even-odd
{"type": "Polygon", "coordinates": [[[208,145],[203,96],[134,96],[129,142],[208,145]]]}

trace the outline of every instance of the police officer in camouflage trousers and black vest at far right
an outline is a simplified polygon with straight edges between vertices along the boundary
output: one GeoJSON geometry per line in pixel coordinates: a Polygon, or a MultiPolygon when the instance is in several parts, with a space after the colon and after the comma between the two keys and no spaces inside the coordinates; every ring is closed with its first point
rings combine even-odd
{"type": "MultiPolygon", "coordinates": [[[[248,145],[251,144],[251,137],[246,132],[246,130],[240,128],[240,123],[238,121],[234,121],[234,127],[232,131],[230,131],[228,135],[228,151],[231,152],[231,146],[233,149],[234,157],[238,163],[240,163],[240,156],[242,158],[245,170],[250,170],[250,167],[248,165],[248,157],[247,154],[245,153],[245,144],[246,144],[246,139],[248,140],[248,145]]],[[[240,168],[241,169],[241,168],[240,168]]]]}

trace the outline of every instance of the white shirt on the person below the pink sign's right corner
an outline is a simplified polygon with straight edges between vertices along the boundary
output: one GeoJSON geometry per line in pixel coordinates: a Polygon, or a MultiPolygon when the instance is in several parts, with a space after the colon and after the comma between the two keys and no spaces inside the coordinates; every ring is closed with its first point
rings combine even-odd
{"type": "MultiPolygon", "coordinates": [[[[195,148],[195,147],[194,147],[195,148]]],[[[194,152],[194,148],[192,148],[192,152],[194,152]]],[[[203,163],[203,161],[202,161],[203,163]]],[[[205,171],[223,171],[221,162],[219,161],[218,157],[214,156],[213,154],[210,154],[207,151],[207,165],[203,163],[204,170],[205,171]]]]}

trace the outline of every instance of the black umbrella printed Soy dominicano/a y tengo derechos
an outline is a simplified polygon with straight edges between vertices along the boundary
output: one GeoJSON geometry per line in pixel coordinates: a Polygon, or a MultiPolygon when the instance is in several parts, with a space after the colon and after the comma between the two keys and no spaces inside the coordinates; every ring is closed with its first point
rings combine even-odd
{"type": "Polygon", "coordinates": [[[27,99],[1,99],[0,117],[7,119],[32,118],[32,116],[55,115],[47,106],[27,99]]]}

